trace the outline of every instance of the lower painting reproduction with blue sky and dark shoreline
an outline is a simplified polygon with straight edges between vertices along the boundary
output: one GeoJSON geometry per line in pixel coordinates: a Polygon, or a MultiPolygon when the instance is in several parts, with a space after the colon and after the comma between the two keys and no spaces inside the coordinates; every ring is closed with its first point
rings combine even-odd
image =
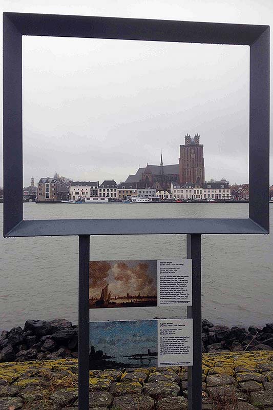
{"type": "Polygon", "coordinates": [[[157,366],[157,320],[90,322],[90,370],[157,366]]]}

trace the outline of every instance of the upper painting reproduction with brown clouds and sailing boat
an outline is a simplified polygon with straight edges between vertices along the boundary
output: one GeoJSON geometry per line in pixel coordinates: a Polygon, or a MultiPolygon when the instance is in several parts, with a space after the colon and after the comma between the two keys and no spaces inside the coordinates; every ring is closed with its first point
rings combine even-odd
{"type": "Polygon", "coordinates": [[[89,262],[89,307],[157,306],[156,260],[89,262]]]}

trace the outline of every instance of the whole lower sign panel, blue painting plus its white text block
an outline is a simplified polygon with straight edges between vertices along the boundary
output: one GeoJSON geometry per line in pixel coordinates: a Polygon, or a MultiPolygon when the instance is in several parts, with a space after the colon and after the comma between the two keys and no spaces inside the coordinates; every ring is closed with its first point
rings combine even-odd
{"type": "Polygon", "coordinates": [[[192,319],[90,322],[90,370],[192,364],[192,319]]]}

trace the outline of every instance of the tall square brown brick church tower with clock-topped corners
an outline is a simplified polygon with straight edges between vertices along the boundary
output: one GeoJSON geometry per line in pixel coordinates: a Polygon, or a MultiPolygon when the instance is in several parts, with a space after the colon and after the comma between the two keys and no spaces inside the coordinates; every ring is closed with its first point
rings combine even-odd
{"type": "Polygon", "coordinates": [[[204,146],[200,144],[200,135],[185,135],[185,144],[180,145],[179,179],[180,183],[205,182],[204,146]]]}

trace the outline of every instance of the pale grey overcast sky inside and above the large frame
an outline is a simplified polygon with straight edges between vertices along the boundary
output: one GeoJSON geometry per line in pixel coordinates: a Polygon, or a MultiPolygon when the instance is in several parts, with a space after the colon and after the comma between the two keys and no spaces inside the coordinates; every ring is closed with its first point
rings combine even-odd
{"type": "MultiPolygon", "coordinates": [[[[271,0],[6,0],[3,11],[273,20],[271,0]]],[[[178,163],[184,135],[197,132],[205,179],[248,182],[247,46],[24,37],[23,50],[25,186],[55,171],[119,182],[159,165],[161,150],[165,165],[178,163]]]]}

